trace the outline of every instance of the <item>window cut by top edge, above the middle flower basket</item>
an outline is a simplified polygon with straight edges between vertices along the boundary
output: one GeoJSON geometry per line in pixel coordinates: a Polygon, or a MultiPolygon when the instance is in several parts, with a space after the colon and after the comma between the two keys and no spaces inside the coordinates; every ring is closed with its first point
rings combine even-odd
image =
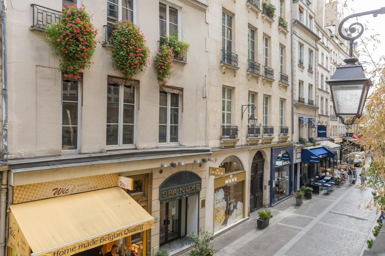
{"type": "Polygon", "coordinates": [[[135,0],[107,0],[108,25],[114,26],[116,20],[134,22],[134,1],[135,0]]]}

